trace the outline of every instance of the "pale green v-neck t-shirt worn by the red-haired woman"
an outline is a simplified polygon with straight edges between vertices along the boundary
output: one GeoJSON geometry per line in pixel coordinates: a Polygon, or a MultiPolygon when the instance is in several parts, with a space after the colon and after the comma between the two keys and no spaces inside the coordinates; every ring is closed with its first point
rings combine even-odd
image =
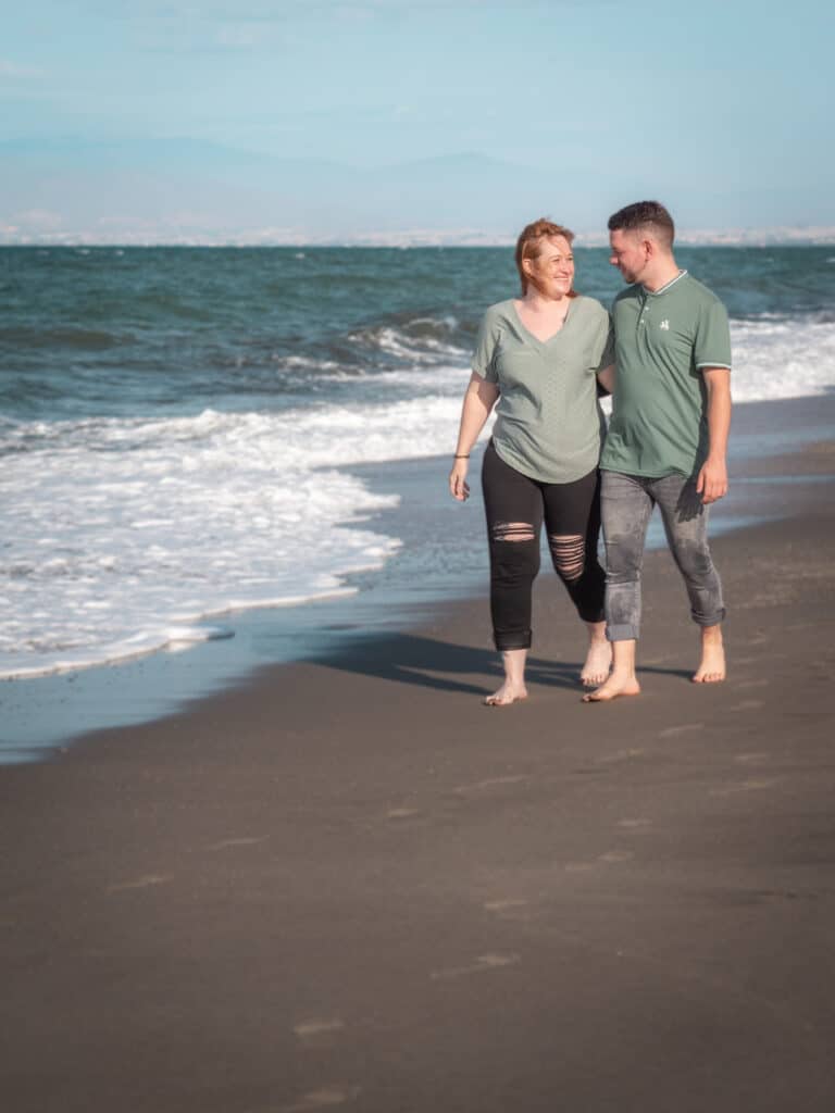
{"type": "Polygon", "coordinates": [[[571,298],[559,332],[538,339],[513,299],[481,322],[472,370],[500,391],[493,446],[540,483],[573,483],[597,467],[606,423],[597,373],[615,362],[609,314],[593,297],[571,298]]]}

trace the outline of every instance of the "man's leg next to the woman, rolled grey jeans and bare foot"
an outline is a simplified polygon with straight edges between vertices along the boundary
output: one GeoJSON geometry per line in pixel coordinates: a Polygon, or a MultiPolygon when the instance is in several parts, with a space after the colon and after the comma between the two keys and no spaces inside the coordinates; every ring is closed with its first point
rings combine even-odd
{"type": "Polygon", "coordinates": [[[612,643],[609,679],[583,696],[598,703],[617,696],[637,696],[636,641],[640,633],[640,578],[644,542],[655,505],[646,481],[619,472],[603,472],[600,509],[606,542],[606,636],[612,643]]]}

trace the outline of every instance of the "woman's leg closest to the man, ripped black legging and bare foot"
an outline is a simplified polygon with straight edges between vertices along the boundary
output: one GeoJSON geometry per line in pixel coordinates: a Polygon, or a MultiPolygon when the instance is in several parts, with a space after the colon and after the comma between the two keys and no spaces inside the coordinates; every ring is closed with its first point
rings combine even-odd
{"type": "Polygon", "coordinates": [[[554,571],[586,623],[589,648],[580,672],[584,684],[601,684],[609,674],[611,647],[606,640],[606,574],[598,560],[600,477],[595,469],[573,483],[543,486],[546,530],[554,571]]]}

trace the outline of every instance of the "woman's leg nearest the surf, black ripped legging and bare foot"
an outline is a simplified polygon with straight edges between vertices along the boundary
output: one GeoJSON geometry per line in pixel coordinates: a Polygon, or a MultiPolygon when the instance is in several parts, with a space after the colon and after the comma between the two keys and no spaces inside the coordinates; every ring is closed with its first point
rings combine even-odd
{"type": "Polygon", "coordinates": [[[512,703],[528,695],[524,662],[531,644],[531,590],[539,572],[542,496],[539,485],[505,464],[492,443],[481,471],[490,545],[490,613],[502,654],[504,683],[487,702],[512,703]]]}

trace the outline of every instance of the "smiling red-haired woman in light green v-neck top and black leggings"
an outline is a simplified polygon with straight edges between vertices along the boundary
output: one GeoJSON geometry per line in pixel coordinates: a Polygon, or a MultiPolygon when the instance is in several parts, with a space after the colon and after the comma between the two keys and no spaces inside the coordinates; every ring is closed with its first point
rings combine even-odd
{"type": "Polygon", "coordinates": [[[597,559],[605,429],[597,385],[612,390],[613,343],[602,305],[573,290],[573,238],[546,219],[520,235],[522,296],[491,306],[481,323],[450,473],[450,492],[463,502],[470,451],[498,400],[482,466],[490,610],[504,666],[504,683],[484,701],[492,707],[528,695],[524,664],[543,519],[553,567],[588,629],[582,683],[602,683],[611,666],[597,559]]]}

